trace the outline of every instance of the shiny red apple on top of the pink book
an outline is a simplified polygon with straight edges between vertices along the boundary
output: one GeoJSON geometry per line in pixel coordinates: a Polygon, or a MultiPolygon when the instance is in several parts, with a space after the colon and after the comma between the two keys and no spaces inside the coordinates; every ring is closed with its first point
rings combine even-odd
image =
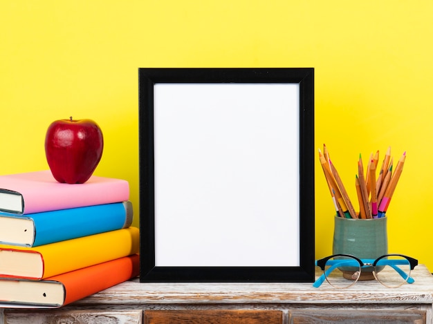
{"type": "Polygon", "coordinates": [[[56,120],[48,126],[45,155],[58,182],[84,183],[101,160],[104,138],[93,120],[56,120]]]}

